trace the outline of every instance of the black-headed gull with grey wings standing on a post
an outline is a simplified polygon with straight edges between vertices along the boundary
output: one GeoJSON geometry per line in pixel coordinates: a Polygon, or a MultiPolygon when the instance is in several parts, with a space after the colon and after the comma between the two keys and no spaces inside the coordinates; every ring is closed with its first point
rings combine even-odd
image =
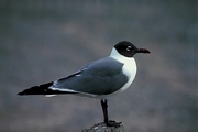
{"type": "Polygon", "coordinates": [[[129,88],[136,75],[136,53],[151,54],[146,48],[138,48],[129,41],[117,43],[109,56],[94,61],[74,74],[55,81],[33,86],[19,92],[20,96],[77,95],[100,99],[103,122],[108,127],[119,127],[121,122],[109,120],[108,98],[129,88]]]}

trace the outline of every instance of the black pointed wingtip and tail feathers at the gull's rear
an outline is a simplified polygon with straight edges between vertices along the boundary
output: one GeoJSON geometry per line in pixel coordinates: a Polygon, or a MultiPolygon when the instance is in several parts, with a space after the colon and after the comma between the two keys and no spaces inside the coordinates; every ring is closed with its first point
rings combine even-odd
{"type": "Polygon", "coordinates": [[[42,84],[40,86],[33,86],[31,88],[24,89],[23,91],[19,92],[20,96],[26,96],[26,95],[59,95],[59,94],[72,94],[69,91],[61,91],[61,90],[54,90],[50,87],[53,86],[52,82],[42,84]]]}

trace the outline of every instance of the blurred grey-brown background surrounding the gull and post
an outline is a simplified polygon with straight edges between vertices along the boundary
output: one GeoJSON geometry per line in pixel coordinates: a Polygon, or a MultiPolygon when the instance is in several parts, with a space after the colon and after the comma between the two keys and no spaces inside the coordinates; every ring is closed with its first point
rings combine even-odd
{"type": "Polygon", "coordinates": [[[0,131],[79,132],[101,122],[98,99],[20,97],[106,57],[120,41],[138,75],[109,99],[127,132],[198,131],[197,0],[0,0],[0,131]]]}

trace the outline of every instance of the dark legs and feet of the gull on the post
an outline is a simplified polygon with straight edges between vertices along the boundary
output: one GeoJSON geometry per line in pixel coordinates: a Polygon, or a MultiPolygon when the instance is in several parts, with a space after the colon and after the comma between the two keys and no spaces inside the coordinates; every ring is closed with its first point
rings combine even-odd
{"type": "Polygon", "coordinates": [[[108,127],[120,127],[121,122],[110,121],[108,117],[108,100],[100,101],[103,111],[103,121],[108,127]]]}

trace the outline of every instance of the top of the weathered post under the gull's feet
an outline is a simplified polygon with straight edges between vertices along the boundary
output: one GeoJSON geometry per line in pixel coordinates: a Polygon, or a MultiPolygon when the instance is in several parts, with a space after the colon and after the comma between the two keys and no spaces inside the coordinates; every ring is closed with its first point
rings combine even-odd
{"type": "Polygon", "coordinates": [[[101,122],[81,132],[124,132],[124,127],[122,124],[120,127],[107,127],[105,122],[101,122]]]}

